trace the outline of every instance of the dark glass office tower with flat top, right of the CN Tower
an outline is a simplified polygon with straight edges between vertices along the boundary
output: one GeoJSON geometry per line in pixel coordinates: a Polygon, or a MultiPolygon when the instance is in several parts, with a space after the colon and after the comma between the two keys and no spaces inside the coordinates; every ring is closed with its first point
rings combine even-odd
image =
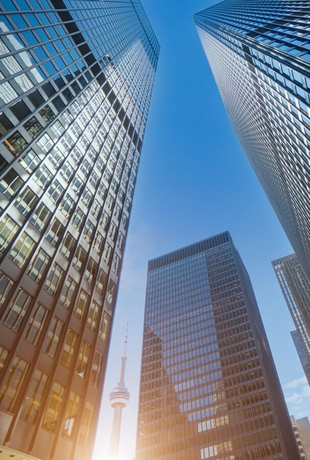
{"type": "Polygon", "coordinates": [[[136,460],[298,460],[228,232],[149,261],[136,460]]]}

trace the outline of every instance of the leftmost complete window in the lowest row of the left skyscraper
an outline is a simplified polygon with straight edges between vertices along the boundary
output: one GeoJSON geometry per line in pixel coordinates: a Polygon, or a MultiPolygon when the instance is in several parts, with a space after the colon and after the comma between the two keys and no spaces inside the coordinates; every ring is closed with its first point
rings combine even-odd
{"type": "Polygon", "coordinates": [[[28,367],[27,362],[15,356],[0,390],[0,407],[2,410],[13,413],[20,388],[27,376],[28,367]]]}

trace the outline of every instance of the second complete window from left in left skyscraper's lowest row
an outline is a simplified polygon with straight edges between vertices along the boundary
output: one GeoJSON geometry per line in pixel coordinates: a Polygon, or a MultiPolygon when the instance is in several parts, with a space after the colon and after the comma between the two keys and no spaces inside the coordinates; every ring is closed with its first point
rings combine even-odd
{"type": "Polygon", "coordinates": [[[29,423],[35,423],[42,404],[42,398],[47,381],[47,375],[36,369],[28,387],[27,396],[23,403],[20,418],[29,423]]]}

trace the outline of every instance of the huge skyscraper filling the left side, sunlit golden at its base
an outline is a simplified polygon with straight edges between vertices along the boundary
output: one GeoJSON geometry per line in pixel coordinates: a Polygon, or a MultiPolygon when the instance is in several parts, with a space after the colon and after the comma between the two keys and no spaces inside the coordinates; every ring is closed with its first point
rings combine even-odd
{"type": "Polygon", "coordinates": [[[0,444],[86,460],[159,45],[139,0],[0,8],[0,444]]]}

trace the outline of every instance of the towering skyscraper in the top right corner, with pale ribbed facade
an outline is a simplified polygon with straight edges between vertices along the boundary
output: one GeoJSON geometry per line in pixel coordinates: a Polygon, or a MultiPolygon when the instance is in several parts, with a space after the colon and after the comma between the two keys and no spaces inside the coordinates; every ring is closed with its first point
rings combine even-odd
{"type": "Polygon", "coordinates": [[[308,278],[309,8],[225,0],[194,16],[235,132],[308,278]]]}

